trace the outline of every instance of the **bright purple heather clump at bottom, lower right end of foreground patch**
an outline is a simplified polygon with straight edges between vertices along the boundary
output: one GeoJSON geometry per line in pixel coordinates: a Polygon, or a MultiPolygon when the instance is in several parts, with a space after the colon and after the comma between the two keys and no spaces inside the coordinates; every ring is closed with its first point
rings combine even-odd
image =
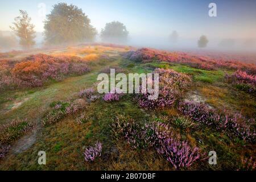
{"type": "Polygon", "coordinates": [[[162,145],[157,148],[158,154],[164,156],[176,169],[189,167],[200,158],[199,148],[192,148],[188,142],[178,139],[164,139],[162,145]]]}

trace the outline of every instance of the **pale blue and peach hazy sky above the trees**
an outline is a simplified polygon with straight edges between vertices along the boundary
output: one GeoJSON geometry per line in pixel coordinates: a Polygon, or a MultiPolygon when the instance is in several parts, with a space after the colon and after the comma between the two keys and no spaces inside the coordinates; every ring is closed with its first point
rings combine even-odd
{"type": "Polygon", "coordinates": [[[19,9],[26,10],[35,24],[35,30],[43,32],[43,18],[39,5],[46,5],[46,14],[58,2],[78,6],[100,32],[105,24],[118,20],[127,27],[130,36],[166,38],[176,30],[182,38],[195,39],[207,35],[210,39],[256,38],[255,0],[0,0],[0,30],[9,26],[18,16],[19,9]],[[208,15],[209,3],[216,3],[217,17],[208,15]]]}

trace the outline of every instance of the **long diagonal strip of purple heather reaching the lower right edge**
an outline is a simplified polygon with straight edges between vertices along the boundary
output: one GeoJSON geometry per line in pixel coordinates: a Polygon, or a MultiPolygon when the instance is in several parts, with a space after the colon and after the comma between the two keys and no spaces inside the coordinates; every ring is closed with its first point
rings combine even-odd
{"type": "Polygon", "coordinates": [[[222,132],[228,129],[229,134],[249,142],[255,142],[256,134],[250,127],[254,119],[247,121],[241,114],[224,114],[195,102],[181,102],[179,110],[197,122],[212,126],[222,132]]]}

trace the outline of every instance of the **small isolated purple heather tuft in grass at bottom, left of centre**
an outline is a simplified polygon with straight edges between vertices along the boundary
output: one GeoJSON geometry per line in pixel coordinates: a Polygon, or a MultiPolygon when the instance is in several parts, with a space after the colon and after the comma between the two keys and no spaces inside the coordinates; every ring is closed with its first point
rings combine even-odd
{"type": "Polygon", "coordinates": [[[102,144],[96,142],[94,146],[89,146],[84,151],[84,159],[87,162],[93,162],[97,157],[101,156],[102,144]]]}

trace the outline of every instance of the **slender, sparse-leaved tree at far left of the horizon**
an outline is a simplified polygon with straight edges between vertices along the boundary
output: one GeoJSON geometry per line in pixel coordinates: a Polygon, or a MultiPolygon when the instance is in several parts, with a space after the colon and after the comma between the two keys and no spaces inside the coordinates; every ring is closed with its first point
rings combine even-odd
{"type": "Polygon", "coordinates": [[[35,26],[31,23],[31,18],[28,17],[27,11],[19,10],[19,13],[20,16],[14,19],[14,26],[10,26],[10,28],[19,37],[19,44],[23,48],[31,48],[35,44],[35,26]]]}

